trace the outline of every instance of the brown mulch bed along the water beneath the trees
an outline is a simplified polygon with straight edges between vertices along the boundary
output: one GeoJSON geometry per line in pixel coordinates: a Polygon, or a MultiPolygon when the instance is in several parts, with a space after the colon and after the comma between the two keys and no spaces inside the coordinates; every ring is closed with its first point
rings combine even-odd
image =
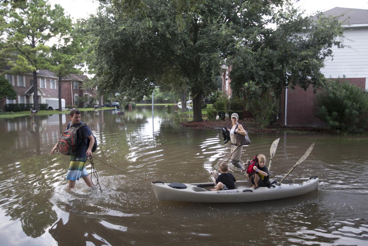
{"type": "MultiPolygon", "coordinates": [[[[241,124],[245,130],[247,130],[250,133],[277,133],[279,131],[313,131],[313,132],[330,132],[327,129],[323,128],[316,128],[316,127],[308,127],[308,126],[298,126],[298,127],[281,127],[281,126],[273,126],[273,127],[267,127],[265,129],[260,129],[256,126],[254,121],[252,119],[244,119],[244,120],[238,120],[238,123],[241,124]]],[[[225,120],[204,120],[199,122],[183,122],[181,123],[182,126],[185,127],[192,127],[197,129],[221,129],[222,127],[231,127],[231,120],[225,119],[225,120]]]]}

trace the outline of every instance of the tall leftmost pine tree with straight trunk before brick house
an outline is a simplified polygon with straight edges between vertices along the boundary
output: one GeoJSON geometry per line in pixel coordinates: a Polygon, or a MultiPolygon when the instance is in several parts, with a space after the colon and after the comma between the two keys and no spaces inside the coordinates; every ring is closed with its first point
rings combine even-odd
{"type": "Polygon", "coordinates": [[[8,12],[7,20],[6,50],[8,54],[16,54],[8,65],[13,73],[33,73],[33,102],[38,110],[37,70],[49,68],[50,49],[45,42],[67,22],[64,10],[58,4],[51,9],[47,1],[30,0],[20,3],[17,11],[8,12]]]}

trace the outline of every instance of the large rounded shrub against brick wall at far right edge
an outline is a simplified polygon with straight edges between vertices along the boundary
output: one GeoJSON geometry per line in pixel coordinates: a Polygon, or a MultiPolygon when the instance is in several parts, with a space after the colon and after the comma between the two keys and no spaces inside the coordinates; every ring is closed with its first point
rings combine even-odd
{"type": "Polygon", "coordinates": [[[316,116],[332,130],[361,133],[368,129],[368,92],[345,78],[328,81],[314,103],[316,116]]]}

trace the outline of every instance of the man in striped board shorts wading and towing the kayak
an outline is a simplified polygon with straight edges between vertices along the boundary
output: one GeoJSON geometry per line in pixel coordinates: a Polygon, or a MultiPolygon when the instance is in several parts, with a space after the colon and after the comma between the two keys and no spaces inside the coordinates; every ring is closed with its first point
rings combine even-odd
{"type": "MultiPolygon", "coordinates": [[[[78,127],[81,122],[81,112],[78,109],[72,109],[70,111],[70,119],[73,127],[78,127]]],[[[65,131],[68,130],[69,126],[65,131]]],[[[89,176],[88,171],[86,169],[86,160],[88,156],[92,155],[92,147],[95,144],[95,138],[92,135],[91,129],[88,126],[83,126],[78,130],[82,136],[84,137],[81,141],[81,144],[78,146],[78,151],[75,155],[70,156],[70,164],[67,173],[67,180],[69,182],[69,188],[75,187],[75,181],[79,180],[79,178],[83,178],[84,182],[88,185],[88,187],[93,187],[91,176],[89,176]],[[87,140],[89,139],[89,146],[87,148],[87,140]]],[[[57,151],[57,146],[59,142],[54,146],[51,150],[51,154],[53,155],[55,151],[57,151]]]]}

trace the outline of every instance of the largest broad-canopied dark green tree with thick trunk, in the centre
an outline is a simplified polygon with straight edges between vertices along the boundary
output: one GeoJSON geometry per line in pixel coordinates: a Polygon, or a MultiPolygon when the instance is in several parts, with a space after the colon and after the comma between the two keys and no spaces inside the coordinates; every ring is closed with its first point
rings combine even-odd
{"type": "Polygon", "coordinates": [[[220,65],[231,54],[237,33],[256,29],[282,1],[203,1],[184,11],[181,21],[174,1],[142,0],[148,8],[134,17],[115,4],[121,2],[113,1],[112,8],[88,21],[88,32],[95,37],[90,62],[99,87],[143,97],[159,85],[165,70],[175,68],[192,92],[193,119],[199,121],[202,94],[217,89],[220,65]]]}

